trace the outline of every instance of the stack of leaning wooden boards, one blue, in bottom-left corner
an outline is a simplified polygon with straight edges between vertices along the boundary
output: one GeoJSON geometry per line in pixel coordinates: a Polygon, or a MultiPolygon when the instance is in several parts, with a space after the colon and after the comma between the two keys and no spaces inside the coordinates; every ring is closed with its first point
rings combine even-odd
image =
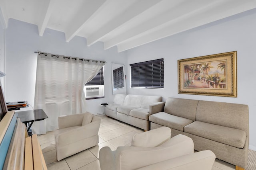
{"type": "Polygon", "coordinates": [[[28,137],[14,111],[0,121],[0,170],[47,170],[37,135],[28,137]]]}

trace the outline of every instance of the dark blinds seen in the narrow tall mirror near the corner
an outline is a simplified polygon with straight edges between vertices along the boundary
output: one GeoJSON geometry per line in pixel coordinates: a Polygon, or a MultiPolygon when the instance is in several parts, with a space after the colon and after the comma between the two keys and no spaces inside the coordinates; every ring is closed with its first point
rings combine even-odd
{"type": "Polygon", "coordinates": [[[123,67],[113,70],[114,90],[124,88],[124,70],[123,67]]]}

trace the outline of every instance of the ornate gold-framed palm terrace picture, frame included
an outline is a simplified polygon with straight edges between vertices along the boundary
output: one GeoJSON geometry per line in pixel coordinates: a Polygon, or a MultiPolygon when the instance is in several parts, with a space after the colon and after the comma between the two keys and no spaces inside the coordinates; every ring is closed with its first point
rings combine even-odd
{"type": "Polygon", "coordinates": [[[178,93],[237,97],[236,51],[178,60],[178,93]]]}

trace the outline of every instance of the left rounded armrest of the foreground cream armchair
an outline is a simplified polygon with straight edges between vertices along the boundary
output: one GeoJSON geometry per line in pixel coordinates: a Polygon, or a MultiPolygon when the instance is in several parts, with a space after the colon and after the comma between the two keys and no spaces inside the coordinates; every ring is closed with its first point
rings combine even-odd
{"type": "Polygon", "coordinates": [[[103,147],[100,149],[100,169],[114,170],[116,169],[115,157],[110,147],[103,147]]]}

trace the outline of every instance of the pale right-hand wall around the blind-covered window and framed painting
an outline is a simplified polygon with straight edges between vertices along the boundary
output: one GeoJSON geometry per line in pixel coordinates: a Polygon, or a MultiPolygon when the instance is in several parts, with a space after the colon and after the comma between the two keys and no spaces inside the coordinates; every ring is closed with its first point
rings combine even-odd
{"type": "Polygon", "coordinates": [[[127,93],[247,104],[249,106],[250,149],[256,150],[256,9],[185,31],[127,51],[129,64],[164,58],[164,90],[131,89],[127,93]],[[179,59],[237,51],[238,97],[178,94],[179,59]]]}

